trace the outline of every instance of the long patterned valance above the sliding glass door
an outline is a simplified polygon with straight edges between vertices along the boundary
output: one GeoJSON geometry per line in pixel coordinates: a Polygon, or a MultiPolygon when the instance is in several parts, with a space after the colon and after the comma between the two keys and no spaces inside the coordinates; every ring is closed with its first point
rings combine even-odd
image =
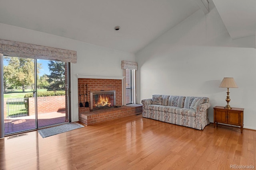
{"type": "Polygon", "coordinates": [[[76,63],[76,51],[0,39],[0,53],[12,57],[76,63]]]}

